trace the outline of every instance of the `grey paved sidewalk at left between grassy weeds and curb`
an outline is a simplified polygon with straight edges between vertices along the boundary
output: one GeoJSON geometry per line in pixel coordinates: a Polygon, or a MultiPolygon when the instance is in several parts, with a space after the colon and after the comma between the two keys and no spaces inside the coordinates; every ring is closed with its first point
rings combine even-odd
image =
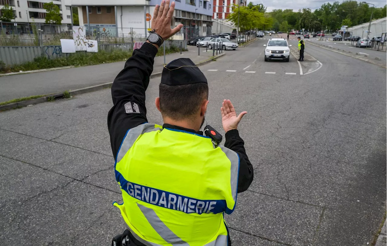
{"type": "MultiPolygon", "coordinates": [[[[178,58],[190,58],[194,63],[205,61],[212,56],[211,52],[204,52],[196,46],[188,46],[188,51],[182,54],[174,53],[165,56],[168,64],[178,58]]],[[[32,95],[46,95],[51,93],[76,90],[111,82],[123,69],[125,61],[106,63],[62,70],[44,71],[39,73],[19,74],[0,77],[0,102],[14,98],[29,97],[32,95]]],[[[163,71],[164,56],[154,59],[153,73],[163,71]]]]}

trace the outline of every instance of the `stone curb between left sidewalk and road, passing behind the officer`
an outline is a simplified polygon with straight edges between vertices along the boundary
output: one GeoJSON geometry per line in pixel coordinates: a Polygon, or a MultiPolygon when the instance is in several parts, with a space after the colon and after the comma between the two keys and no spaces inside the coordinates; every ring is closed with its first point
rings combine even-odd
{"type": "MultiPolygon", "coordinates": [[[[224,55],[226,55],[226,53],[222,53],[220,55],[215,56],[214,58],[207,59],[205,61],[201,61],[199,63],[196,63],[196,66],[205,65],[207,63],[210,63],[214,59],[220,58],[220,57],[222,57],[224,55]]],[[[160,77],[162,73],[163,72],[152,73],[150,78],[160,77]]],[[[102,90],[102,89],[110,88],[112,84],[113,84],[113,82],[103,83],[103,84],[100,84],[100,85],[93,85],[93,86],[90,86],[90,87],[80,88],[80,89],[77,89],[77,90],[69,90],[68,93],[70,93],[71,96],[75,96],[75,95],[79,95],[79,94],[83,94],[83,93],[87,93],[87,92],[94,92],[94,91],[97,91],[97,90],[102,90]]],[[[0,105],[0,112],[3,111],[3,110],[19,109],[19,108],[22,108],[22,107],[27,107],[28,105],[35,105],[35,104],[38,104],[38,103],[47,102],[47,98],[48,97],[50,97],[50,98],[53,97],[54,100],[57,100],[57,99],[64,98],[64,95],[63,95],[63,93],[54,93],[54,94],[46,95],[44,97],[39,97],[39,98],[36,98],[36,99],[31,99],[31,100],[22,101],[22,102],[14,102],[14,103],[9,103],[9,104],[5,104],[5,105],[0,105]]]]}

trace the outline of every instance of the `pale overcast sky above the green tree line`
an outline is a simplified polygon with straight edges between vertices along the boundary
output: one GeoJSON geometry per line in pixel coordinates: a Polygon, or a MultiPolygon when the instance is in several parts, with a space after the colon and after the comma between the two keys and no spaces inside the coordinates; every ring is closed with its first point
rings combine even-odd
{"type": "MultiPolygon", "coordinates": [[[[324,3],[333,3],[334,1],[326,0],[247,0],[247,2],[253,2],[254,4],[263,3],[267,7],[267,12],[271,12],[273,9],[293,9],[293,11],[298,11],[300,8],[310,8],[315,10],[320,8],[324,3]]],[[[342,2],[342,1],[339,1],[342,2]]],[[[387,4],[386,0],[373,0],[367,1],[369,3],[375,4],[375,7],[383,7],[387,4]]],[[[372,6],[372,5],[371,5],[372,6]]]]}

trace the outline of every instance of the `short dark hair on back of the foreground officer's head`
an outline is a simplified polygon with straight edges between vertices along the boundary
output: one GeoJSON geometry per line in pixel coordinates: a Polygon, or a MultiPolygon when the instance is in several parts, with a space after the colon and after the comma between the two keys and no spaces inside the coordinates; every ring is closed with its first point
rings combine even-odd
{"type": "Polygon", "coordinates": [[[207,83],[159,85],[160,111],[173,120],[193,117],[203,100],[208,99],[207,83]]]}

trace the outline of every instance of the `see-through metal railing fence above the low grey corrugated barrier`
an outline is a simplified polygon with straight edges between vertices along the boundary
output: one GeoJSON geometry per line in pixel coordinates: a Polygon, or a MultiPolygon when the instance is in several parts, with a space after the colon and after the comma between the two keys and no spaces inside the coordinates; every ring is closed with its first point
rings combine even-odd
{"type": "MultiPolygon", "coordinates": [[[[118,28],[113,25],[86,25],[84,30],[86,39],[97,40],[98,44],[145,42],[149,34],[144,28],[118,28]]],[[[183,33],[180,31],[170,40],[183,40],[183,33]]],[[[60,39],[73,39],[72,25],[0,22],[0,46],[60,45],[60,39]]]]}

